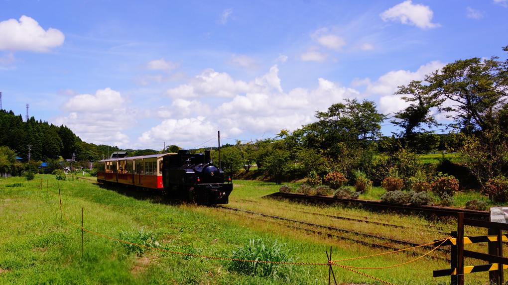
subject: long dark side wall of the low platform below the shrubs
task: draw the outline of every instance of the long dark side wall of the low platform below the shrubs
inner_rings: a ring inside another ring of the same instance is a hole
[[[428,217],[452,217],[456,218],[459,212],[464,212],[464,218],[472,220],[488,221],[490,216],[487,211],[474,211],[467,209],[455,209],[455,208],[442,208],[435,206],[412,206],[412,205],[396,205],[389,204],[380,201],[370,200],[351,200],[351,199],[340,199],[324,196],[312,196],[303,195],[296,193],[273,193],[265,196],[265,198],[274,199],[287,199],[296,202],[310,202],[315,204],[347,204],[357,205],[364,209],[378,210],[378,211],[393,211],[401,213],[412,213],[415,215],[425,215]]]

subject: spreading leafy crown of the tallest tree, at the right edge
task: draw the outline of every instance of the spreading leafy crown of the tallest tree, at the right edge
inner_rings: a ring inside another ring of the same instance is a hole
[[[506,102],[508,63],[497,59],[457,60],[426,77],[430,92],[446,99],[440,111],[448,113],[455,120],[452,126],[466,134],[489,129],[493,114]]]

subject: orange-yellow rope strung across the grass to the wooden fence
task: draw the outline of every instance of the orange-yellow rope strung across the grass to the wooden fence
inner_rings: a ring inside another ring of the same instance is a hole
[[[41,182],[41,189],[42,189],[42,182]],[[389,284],[389,285],[394,285],[393,283],[390,283],[388,281],[384,281],[382,279],[378,279],[376,277],[373,277],[373,276],[370,276],[368,274],[365,274],[365,273],[362,273],[362,272],[359,272],[359,271],[356,271],[354,269],[386,269],[386,268],[393,268],[393,267],[396,267],[396,266],[401,266],[401,265],[405,265],[405,264],[408,264],[408,263],[411,263],[411,262],[415,262],[427,255],[429,255],[430,253],[434,252],[435,250],[437,250],[437,248],[439,248],[444,242],[446,242],[447,240],[449,240],[450,238],[452,237],[447,237],[447,238],[444,238],[444,239],[441,239],[439,241],[442,241],[441,244],[439,244],[438,246],[436,246],[435,248],[433,248],[430,252],[416,258],[416,259],[413,259],[413,260],[410,260],[408,262],[404,262],[404,263],[401,263],[401,264],[397,264],[397,265],[392,265],[392,266],[386,266],[386,267],[354,267],[354,266],[347,266],[347,265],[342,265],[342,264],[338,264],[338,262],[343,262],[343,261],[350,261],[350,260],[356,260],[356,259],[362,259],[362,258],[368,258],[368,257],[376,257],[376,256],[382,256],[382,255],[386,255],[386,254],[391,254],[391,253],[398,253],[398,252],[403,252],[403,251],[407,251],[407,250],[411,250],[411,249],[414,249],[414,248],[418,248],[418,247],[422,247],[422,246],[426,246],[426,245],[429,245],[429,244],[434,244],[435,242],[432,241],[432,242],[429,242],[429,243],[426,243],[426,244],[421,244],[421,245],[418,245],[418,246],[412,246],[412,247],[409,247],[409,248],[403,248],[402,250],[398,250],[398,251],[393,251],[393,252],[387,252],[387,253],[381,253],[381,254],[375,254],[375,255],[369,255],[369,256],[363,256],[363,257],[355,257],[355,258],[349,258],[349,259],[343,259],[343,260],[330,260],[328,261],[328,263],[307,263],[307,262],[279,262],[279,261],[263,261],[263,260],[243,260],[243,259],[233,259],[233,258],[225,258],[225,257],[214,257],[214,256],[205,256],[205,255],[197,255],[197,254],[189,254],[189,253],[182,253],[182,252],[176,252],[176,251],[170,251],[170,250],[165,250],[164,248],[158,248],[158,247],[152,247],[152,246],[147,246],[147,245],[142,245],[142,244],[137,244],[137,243],[133,243],[133,242],[129,242],[129,241],[124,241],[124,240],[120,240],[120,239],[117,239],[117,238],[113,238],[113,237],[110,237],[110,236],[106,236],[106,235],[103,235],[103,234],[100,234],[100,233],[96,233],[96,232],[93,232],[93,231],[90,231],[90,230],[87,230],[85,229],[84,227],[81,227],[79,225],[76,225],[70,218],[69,216],[67,215],[67,213],[65,212],[65,210],[63,210],[63,206],[62,206],[62,203],[61,203],[61,196],[57,193],[54,193],[53,191],[49,190],[49,188],[46,186],[45,187],[46,190],[48,190],[49,192],[51,192],[52,194],[54,195],[58,195],[60,197],[60,202],[59,202],[59,206],[60,206],[60,210],[63,212],[63,215],[66,217],[66,219],[75,227],[83,230],[83,231],[86,231],[88,233],[91,233],[91,234],[94,234],[94,235],[98,235],[98,236],[101,236],[101,237],[104,237],[104,238],[107,238],[107,239],[111,239],[111,240],[115,240],[115,241],[118,241],[118,242],[122,242],[122,243],[126,243],[126,244],[131,244],[131,245],[135,245],[135,246],[141,246],[141,247],[145,247],[145,248],[148,248],[148,249],[151,249],[151,250],[156,250],[156,251],[161,251],[161,252],[167,252],[167,253],[172,253],[172,254],[178,254],[178,255],[185,255],[185,256],[193,256],[193,257],[201,257],[201,258],[208,258],[208,259],[217,259],[217,260],[228,260],[228,261],[241,261],[241,262],[253,262],[253,263],[274,263],[274,264],[295,264],[295,265],[324,265],[324,266],[338,266],[338,267],[341,267],[343,269],[346,269],[346,270],[349,270],[349,271],[352,271],[352,272],[355,272],[357,274],[360,274],[360,275],[363,275],[365,277],[368,277],[368,278],[371,278],[371,279],[374,279],[374,280],[377,280],[379,282],[383,282],[383,283],[386,283],[386,284]],[[439,241],[436,241],[436,242],[439,242]]]

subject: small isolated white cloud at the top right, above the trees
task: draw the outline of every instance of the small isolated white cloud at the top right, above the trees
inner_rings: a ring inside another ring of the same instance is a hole
[[[380,14],[386,22],[400,21],[403,24],[416,25],[419,28],[439,27],[438,23],[432,23],[433,12],[428,6],[422,4],[412,4],[411,0],[406,0]]]

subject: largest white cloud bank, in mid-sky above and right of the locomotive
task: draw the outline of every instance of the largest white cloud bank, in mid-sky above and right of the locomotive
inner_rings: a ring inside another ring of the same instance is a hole
[[[217,77],[221,78],[218,82],[222,84],[217,85]],[[171,141],[171,144],[194,147],[215,136],[217,130],[225,136],[294,130],[314,122],[316,110],[325,111],[331,104],[344,98],[360,96],[354,89],[322,78],[314,89],[295,88],[288,93],[283,92],[280,82],[277,65],[272,66],[265,75],[241,84],[226,73],[219,74],[207,69],[188,84],[171,91],[175,94],[181,92],[180,96],[173,99],[171,106],[155,111],[156,117],[165,120],[143,133],[137,144],[142,146],[165,140]],[[234,88],[235,84],[239,84],[244,92],[234,93],[238,91]],[[226,90],[224,93],[235,95],[218,105],[188,99],[202,96],[203,90],[217,93],[217,86],[223,86]],[[185,96],[182,96],[183,93]],[[216,100],[208,102],[212,101]]]

